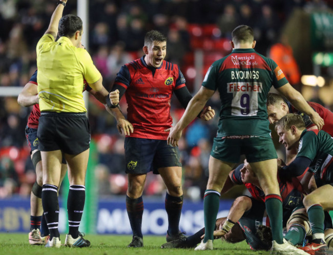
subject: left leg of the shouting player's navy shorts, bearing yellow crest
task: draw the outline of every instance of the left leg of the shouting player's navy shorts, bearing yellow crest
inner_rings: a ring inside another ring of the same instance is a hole
[[[124,142],[126,173],[147,174],[153,170],[158,140],[126,137]]]

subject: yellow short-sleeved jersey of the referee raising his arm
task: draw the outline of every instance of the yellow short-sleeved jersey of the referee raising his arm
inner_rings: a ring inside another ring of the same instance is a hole
[[[65,36],[54,41],[50,34],[39,39],[36,52],[40,111],[86,112],[84,78],[94,83],[101,76],[89,53]]]

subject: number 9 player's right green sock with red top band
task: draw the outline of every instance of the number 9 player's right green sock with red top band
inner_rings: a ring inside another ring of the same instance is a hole
[[[278,244],[282,244],[282,198],[277,194],[268,194],[265,197],[265,205],[270,227],[272,228],[273,240]]]

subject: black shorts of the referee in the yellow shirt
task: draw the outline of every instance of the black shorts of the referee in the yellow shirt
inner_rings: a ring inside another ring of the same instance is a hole
[[[71,155],[84,152],[90,145],[86,113],[41,112],[37,137],[42,152],[61,150]]]

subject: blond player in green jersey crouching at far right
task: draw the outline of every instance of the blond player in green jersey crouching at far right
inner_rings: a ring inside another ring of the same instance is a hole
[[[282,178],[302,175],[307,167],[303,180],[306,185],[315,174],[318,186],[308,194],[303,204],[306,208],[313,239],[303,247],[309,253],[328,249],[324,238],[324,210],[333,209],[333,139],[325,131],[306,130],[305,123],[297,114],[287,114],[275,125],[280,142],[290,150],[298,148],[296,159],[280,169]]]

